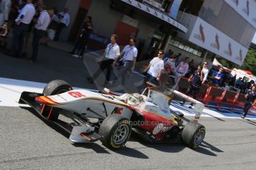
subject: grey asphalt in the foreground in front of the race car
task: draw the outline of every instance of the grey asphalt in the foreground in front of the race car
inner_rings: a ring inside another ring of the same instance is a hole
[[[256,120],[201,118],[198,149],[148,144],[133,136],[120,150],[100,142],[74,145],[29,108],[0,107],[0,169],[255,169]]]

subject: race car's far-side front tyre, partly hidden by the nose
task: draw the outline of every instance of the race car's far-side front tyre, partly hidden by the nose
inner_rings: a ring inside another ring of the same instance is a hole
[[[50,83],[48,83],[45,86],[45,89],[43,90],[42,93],[44,95],[58,95],[60,93],[68,92],[70,90],[72,90],[72,87],[66,81],[53,80],[53,81],[50,81]],[[50,109],[50,108],[46,108],[46,109]],[[48,116],[48,119],[54,121],[54,120],[57,120],[58,118],[59,118],[59,109],[57,108],[52,109],[52,112],[50,113],[50,116]]]

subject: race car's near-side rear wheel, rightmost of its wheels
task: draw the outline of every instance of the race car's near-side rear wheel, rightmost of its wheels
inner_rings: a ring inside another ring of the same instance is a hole
[[[197,148],[206,135],[205,126],[193,121],[188,122],[181,132],[183,142],[191,149]]]

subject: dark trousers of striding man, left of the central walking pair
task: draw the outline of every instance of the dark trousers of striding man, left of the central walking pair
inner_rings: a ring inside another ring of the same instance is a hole
[[[113,63],[114,63],[114,59],[106,59],[104,61],[101,61],[99,65],[99,69],[93,75],[93,79],[96,79],[101,72],[107,69],[106,79],[107,81],[109,81],[111,78],[111,70],[113,69],[113,66],[112,66]]]

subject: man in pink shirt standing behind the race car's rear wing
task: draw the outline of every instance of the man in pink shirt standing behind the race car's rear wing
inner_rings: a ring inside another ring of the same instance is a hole
[[[173,86],[173,89],[177,89],[177,86],[180,82],[180,78],[182,78],[188,72],[188,60],[189,58],[186,57],[185,60],[180,62],[180,64],[177,66],[176,77],[174,80],[175,84]]]

